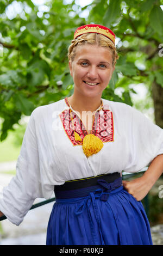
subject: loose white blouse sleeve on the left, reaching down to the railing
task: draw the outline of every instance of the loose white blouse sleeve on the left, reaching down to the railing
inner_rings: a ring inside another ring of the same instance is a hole
[[[39,153],[35,132],[36,109],[30,115],[23,137],[20,155],[16,163],[16,176],[3,188],[0,198],[0,210],[8,220],[19,225],[34,199],[43,197],[39,168]]]

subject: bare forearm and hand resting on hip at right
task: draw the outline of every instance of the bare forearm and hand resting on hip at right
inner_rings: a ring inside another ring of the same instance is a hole
[[[123,187],[133,196],[137,201],[142,200],[149,190],[153,187],[155,182],[159,179],[163,172],[163,154],[156,156],[149,165],[146,172],[137,179],[126,181],[123,180]]]

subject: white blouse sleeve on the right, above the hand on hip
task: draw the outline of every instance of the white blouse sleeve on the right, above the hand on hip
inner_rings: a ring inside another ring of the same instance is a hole
[[[130,157],[125,172],[138,172],[163,154],[163,129],[133,107],[129,107]]]

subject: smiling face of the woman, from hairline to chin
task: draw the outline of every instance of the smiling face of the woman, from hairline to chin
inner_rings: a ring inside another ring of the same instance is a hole
[[[69,66],[76,93],[90,97],[101,97],[115,69],[108,48],[89,44],[77,46],[76,56]]]

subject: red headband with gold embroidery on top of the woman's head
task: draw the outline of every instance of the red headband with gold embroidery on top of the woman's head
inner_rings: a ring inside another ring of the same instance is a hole
[[[97,24],[88,24],[77,28],[73,39],[76,39],[79,35],[83,35],[85,33],[99,33],[105,35],[115,44],[115,34],[111,31],[111,29]]]

